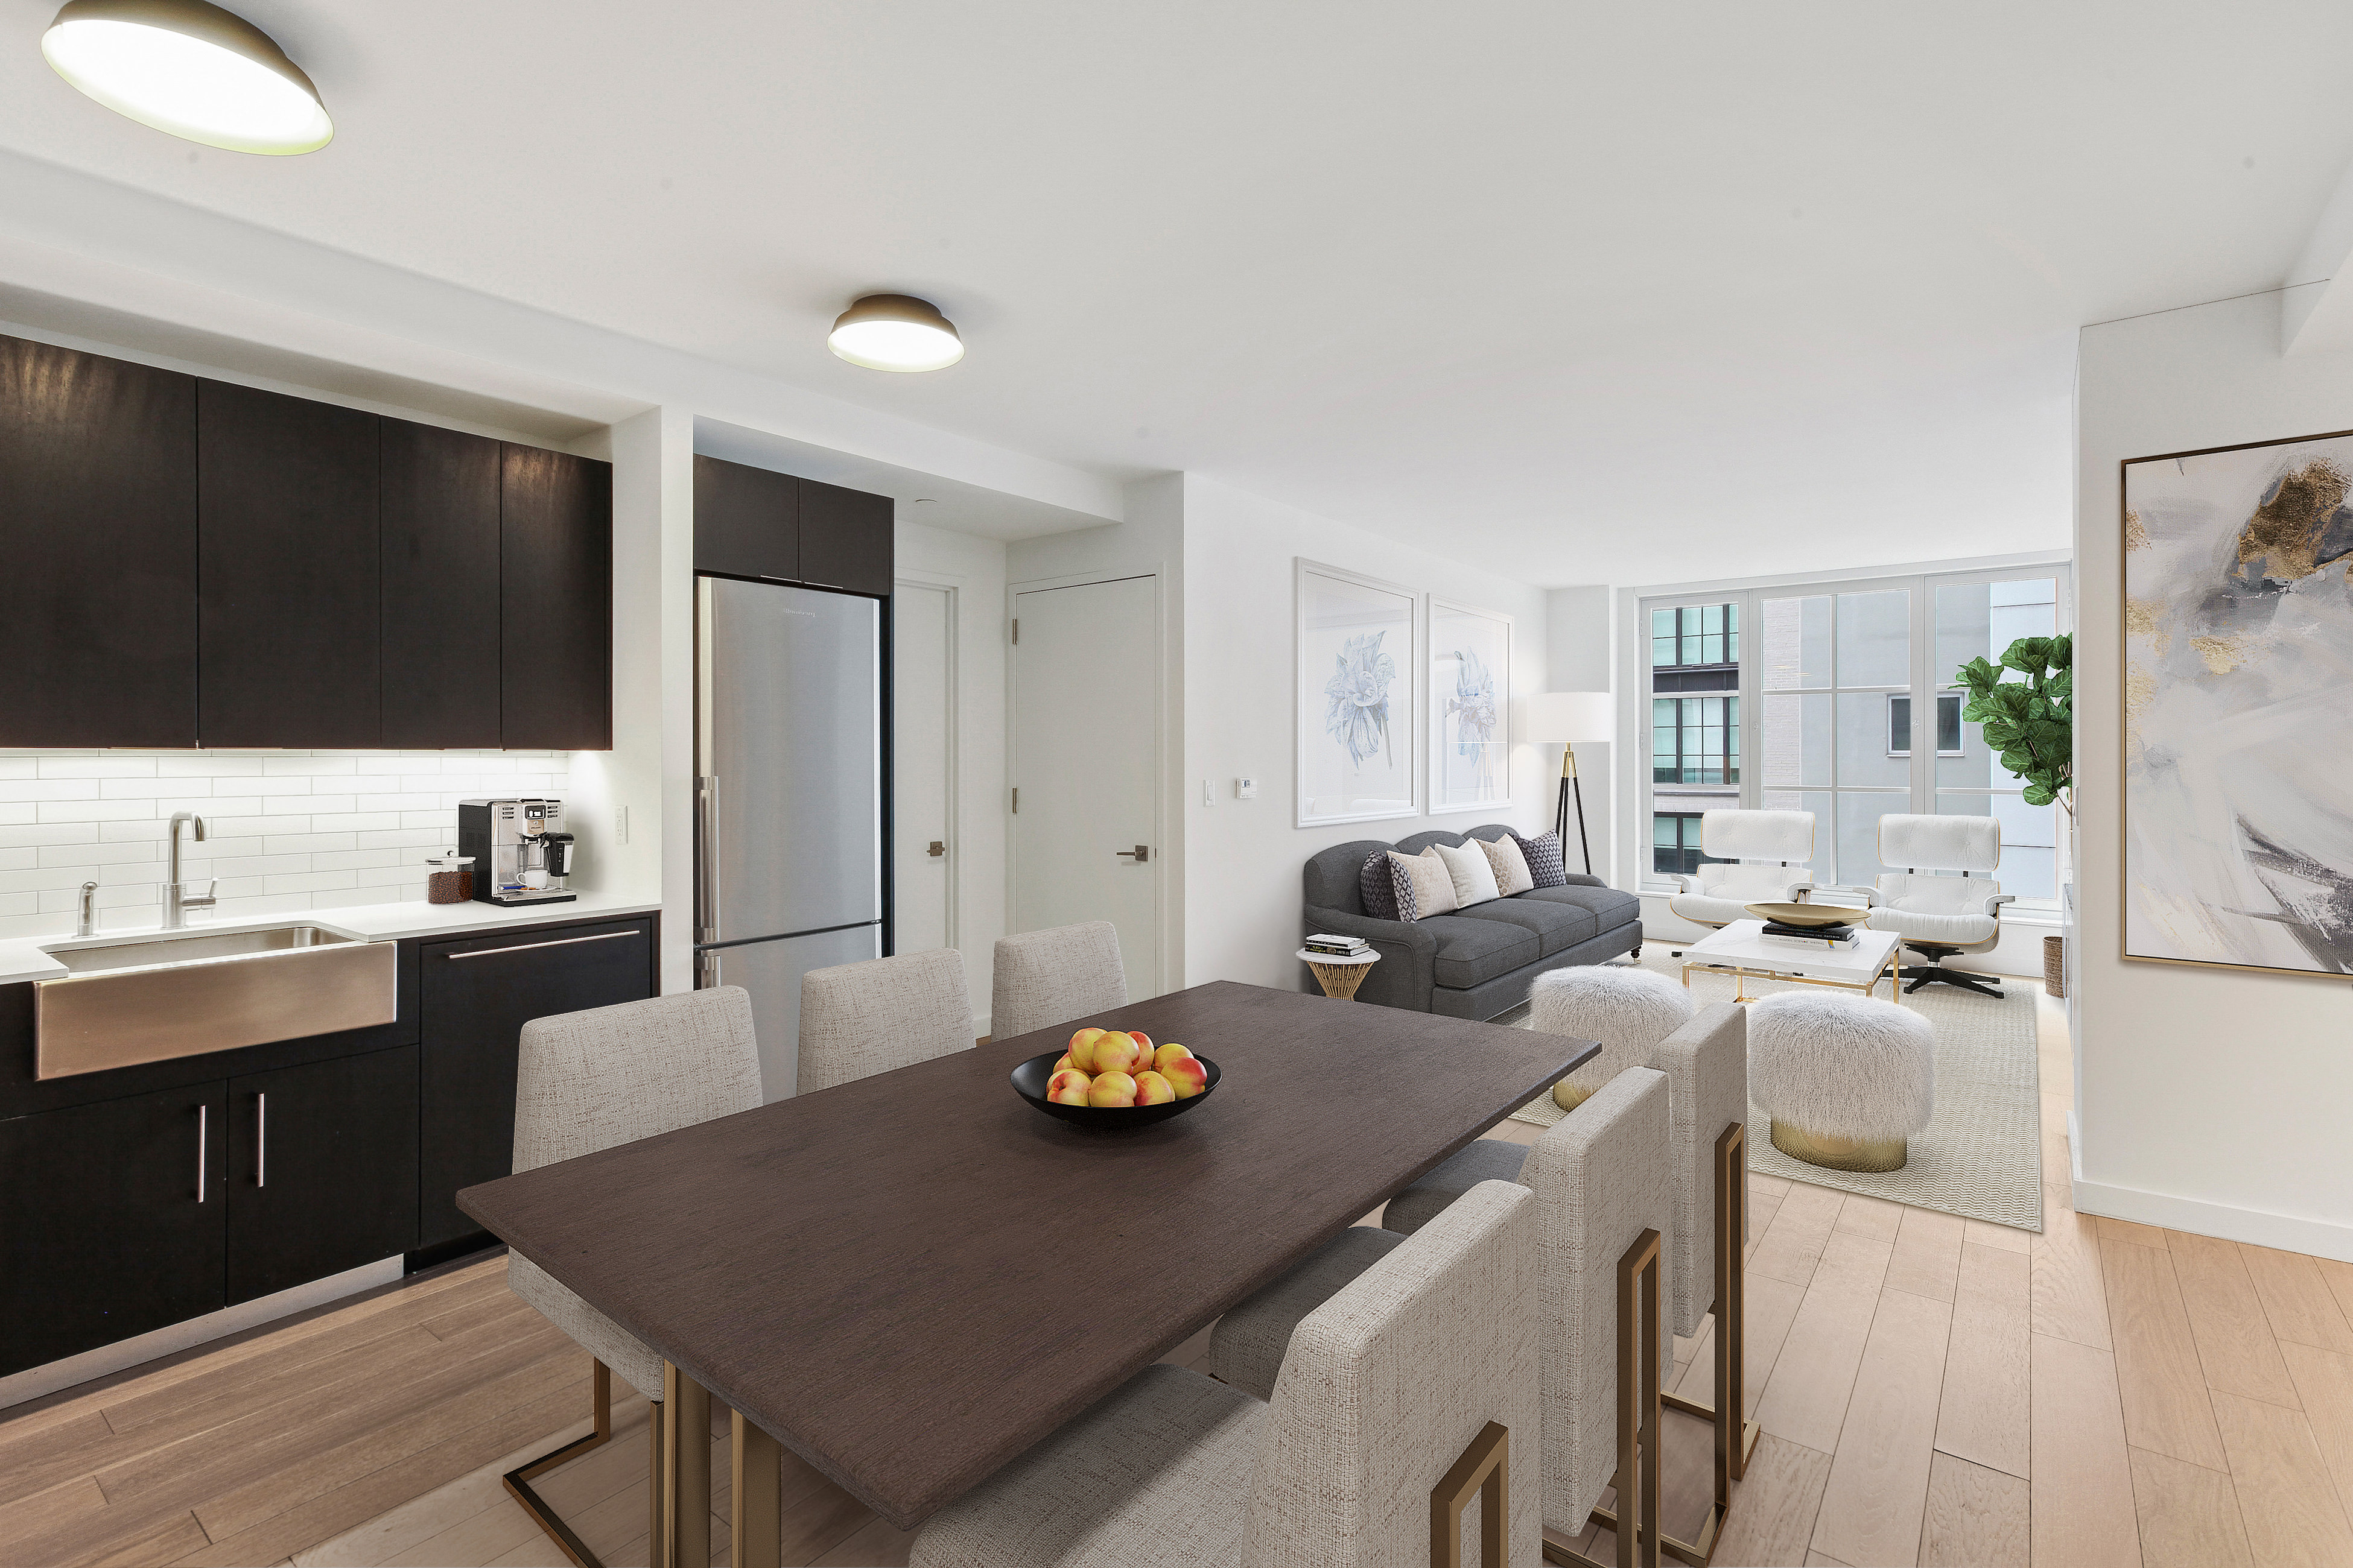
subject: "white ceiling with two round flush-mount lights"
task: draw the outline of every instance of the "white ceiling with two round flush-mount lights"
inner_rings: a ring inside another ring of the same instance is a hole
[[[238,9],[334,146],[132,125],[5,0],[0,148],[1546,583],[2064,545],[2073,329],[2301,282],[2353,158],[2327,2]],[[873,289],[965,362],[831,357]]]

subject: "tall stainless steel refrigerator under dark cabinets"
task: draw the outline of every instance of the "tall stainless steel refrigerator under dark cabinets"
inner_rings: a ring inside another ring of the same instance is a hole
[[[882,957],[882,602],[694,585],[694,983],[751,992],[762,1086],[781,1100],[800,976]]]

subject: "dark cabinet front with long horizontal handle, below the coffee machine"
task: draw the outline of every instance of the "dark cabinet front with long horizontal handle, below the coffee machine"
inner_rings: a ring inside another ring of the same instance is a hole
[[[424,943],[419,1248],[475,1234],[456,1190],[515,1168],[522,1025],[642,1001],[654,994],[654,922],[642,917]]]

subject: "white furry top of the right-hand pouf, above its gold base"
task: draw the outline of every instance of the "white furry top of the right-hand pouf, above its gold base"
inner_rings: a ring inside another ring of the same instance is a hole
[[[1937,1112],[1937,1030],[1873,997],[1748,1004],[1748,1098],[1821,1138],[1911,1138]]]

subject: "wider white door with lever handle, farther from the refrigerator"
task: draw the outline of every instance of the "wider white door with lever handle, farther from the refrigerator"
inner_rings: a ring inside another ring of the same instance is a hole
[[[1108,919],[1127,994],[1158,997],[1160,581],[1019,592],[1014,618],[1014,931]]]

